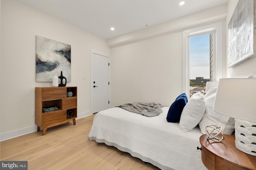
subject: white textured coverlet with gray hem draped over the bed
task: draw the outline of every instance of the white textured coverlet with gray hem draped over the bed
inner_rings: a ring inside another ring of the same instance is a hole
[[[182,132],[178,123],[168,123],[169,107],[163,113],[146,117],[120,107],[98,112],[89,139],[114,146],[162,170],[204,170],[198,127]]]

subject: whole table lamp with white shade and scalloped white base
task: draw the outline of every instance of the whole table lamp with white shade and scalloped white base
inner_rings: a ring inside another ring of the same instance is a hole
[[[256,78],[220,79],[213,110],[235,118],[236,148],[256,156]]]

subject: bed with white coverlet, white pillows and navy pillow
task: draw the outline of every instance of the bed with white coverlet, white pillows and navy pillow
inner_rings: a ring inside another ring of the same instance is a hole
[[[236,78],[256,78],[256,74]],[[94,117],[89,140],[114,146],[162,170],[205,170],[197,147],[201,147],[199,138],[206,126],[221,126],[227,135],[234,132],[234,118],[212,110],[216,86],[205,95],[193,94],[189,101],[181,94],[170,107],[161,106],[162,113],[154,117],[120,107],[100,111]]]

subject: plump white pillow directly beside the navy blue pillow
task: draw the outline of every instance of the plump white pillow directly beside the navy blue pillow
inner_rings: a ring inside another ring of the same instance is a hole
[[[193,94],[181,113],[180,129],[183,132],[192,131],[202,119],[204,111],[204,96],[200,92]]]

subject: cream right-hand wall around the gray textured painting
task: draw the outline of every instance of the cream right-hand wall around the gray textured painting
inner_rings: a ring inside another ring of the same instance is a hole
[[[232,17],[232,14],[236,8],[236,5],[238,3],[238,0],[229,0],[228,1],[228,14],[226,17],[226,33],[228,35],[228,22],[230,21],[230,18]],[[226,37],[228,42],[228,37]],[[228,47],[228,44],[227,44]],[[227,56],[227,54],[226,54]],[[227,62],[226,62],[227,63]],[[227,65],[226,65],[227,67]],[[245,61],[244,63],[238,64],[232,68],[227,68],[227,78],[234,77],[234,76],[240,76],[240,75],[246,75],[246,74],[252,74],[256,73],[256,57],[249,59]]]

